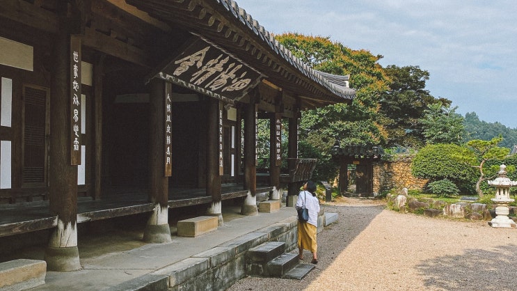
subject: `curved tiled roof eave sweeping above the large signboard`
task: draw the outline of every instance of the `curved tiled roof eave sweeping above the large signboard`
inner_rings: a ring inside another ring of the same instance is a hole
[[[180,25],[224,47],[285,91],[323,104],[351,102],[339,76],[299,61],[232,0],[127,0],[162,22]]]

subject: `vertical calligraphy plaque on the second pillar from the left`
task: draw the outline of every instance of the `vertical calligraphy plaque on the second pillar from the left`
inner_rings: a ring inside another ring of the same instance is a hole
[[[164,96],[164,175],[170,177],[173,173],[172,163],[172,146],[173,146],[173,134],[172,134],[172,84],[165,83],[165,96]]]

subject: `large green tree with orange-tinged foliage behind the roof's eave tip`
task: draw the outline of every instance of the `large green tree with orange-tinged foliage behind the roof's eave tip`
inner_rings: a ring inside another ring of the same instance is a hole
[[[334,104],[304,111],[300,123],[300,139],[314,146],[322,154],[318,173],[327,173],[320,167],[328,164],[335,138],[343,143],[385,143],[387,133],[379,122],[378,102],[381,93],[388,90],[388,79],[379,63],[382,56],[366,50],[352,50],[340,42],[320,36],[285,33],[276,39],[299,58],[322,72],[350,74],[350,86],[356,88],[351,104]],[[303,153],[301,153],[303,155]],[[333,178],[335,173],[321,180]]]

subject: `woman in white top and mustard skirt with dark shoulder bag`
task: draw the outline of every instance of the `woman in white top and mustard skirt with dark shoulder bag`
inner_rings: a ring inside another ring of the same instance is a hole
[[[316,242],[317,228],[318,228],[318,212],[319,201],[316,197],[316,184],[311,180],[303,184],[303,191],[298,194],[296,200],[296,208],[305,208],[309,212],[309,220],[307,222],[298,221],[298,250],[299,259],[303,260],[303,250],[306,249],[312,252],[312,264],[318,263]]]

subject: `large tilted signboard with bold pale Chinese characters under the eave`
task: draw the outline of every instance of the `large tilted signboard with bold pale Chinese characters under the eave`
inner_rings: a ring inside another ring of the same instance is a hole
[[[231,103],[246,95],[262,76],[221,49],[196,38],[156,77]]]

